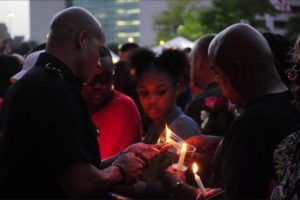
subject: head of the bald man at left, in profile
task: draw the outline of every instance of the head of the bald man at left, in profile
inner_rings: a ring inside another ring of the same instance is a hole
[[[88,81],[96,72],[104,42],[100,22],[84,8],[70,7],[53,17],[46,52],[60,59],[82,81]]]

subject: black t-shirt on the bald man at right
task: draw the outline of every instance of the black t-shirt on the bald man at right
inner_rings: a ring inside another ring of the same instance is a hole
[[[252,102],[226,132],[215,156],[212,187],[230,198],[266,199],[273,173],[273,152],[299,122],[289,92]]]

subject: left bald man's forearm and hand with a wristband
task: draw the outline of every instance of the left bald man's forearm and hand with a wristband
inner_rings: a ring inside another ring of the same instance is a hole
[[[93,197],[103,194],[122,180],[136,181],[144,165],[143,160],[131,153],[120,156],[112,166],[103,170],[97,169],[88,162],[77,161],[69,165],[59,178],[59,183],[63,191],[72,198]]]

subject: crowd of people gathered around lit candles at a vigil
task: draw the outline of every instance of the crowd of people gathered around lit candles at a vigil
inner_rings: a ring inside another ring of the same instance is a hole
[[[191,52],[127,43],[113,63],[101,23],[70,7],[0,72],[0,198],[300,199],[300,36],[238,23]],[[205,191],[157,143],[166,125]]]

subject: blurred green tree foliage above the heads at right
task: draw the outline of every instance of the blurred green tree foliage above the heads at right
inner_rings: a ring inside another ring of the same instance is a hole
[[[169,40],[178,35],[195,40],[241,21],[266,29],[264,24],[255,20],[255,16],[277,14],[268,0],[212,0],[208,7],[199,7],[199,2],[200,0],[169,0],[169,9],[154,18],[157,40]]]

